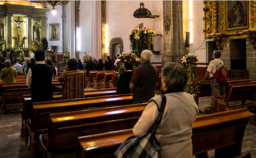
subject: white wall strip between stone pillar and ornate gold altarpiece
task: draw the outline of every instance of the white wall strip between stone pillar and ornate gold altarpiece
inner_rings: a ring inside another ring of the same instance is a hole
[[[199,62],[206,63],[206,42],[204,40],[204,4],[202,0],[193,0],[192,1],[193,8],[193,44],[189,46],[190,55],[193,53],[198,56]],[[189,10],[189,8],[188,8]],[[189,18],[189,13],[188,13]],[[200,65],[199,65],[200,66]]]

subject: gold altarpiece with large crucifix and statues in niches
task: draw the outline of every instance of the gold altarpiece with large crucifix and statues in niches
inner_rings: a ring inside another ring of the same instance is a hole
[[[15,36],[19,43],[23,37],[26,37],[25,47],[35,50],[36,46],[33,45],[33,42],[42,41],[42,38],[46,37],[47,11],[48,9],[40,3],[0,0],[0,26],[3,30],[3,39],[6,40],[2,50],[15,47],[13,39]]]

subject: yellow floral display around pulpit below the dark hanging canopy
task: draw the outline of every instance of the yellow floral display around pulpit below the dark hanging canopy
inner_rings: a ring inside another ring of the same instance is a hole
[[[146,49],[152,50],[153,35],[156,32],[150,28],[144,27],[142,30],[133,29],[129,35],[130,49],[132,52],[138,52],[139,47],[146,44]]]

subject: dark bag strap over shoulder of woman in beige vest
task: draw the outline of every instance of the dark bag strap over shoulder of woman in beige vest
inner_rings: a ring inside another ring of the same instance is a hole
[[[164,94],[160,94],[160,95],[162,97],[162,102],[161,102],[160,110],[158,111],[158,115],[156,117],[156,120],[155,120],[155,122],[152,125],[151,130],[150,130],[150,133],[152,135],[155,135],[156,129],[162,121],[162,117],[163,117],[163,114],[164,114],[164,108],[165,108],[165,105],[166,105],[166,96]]]

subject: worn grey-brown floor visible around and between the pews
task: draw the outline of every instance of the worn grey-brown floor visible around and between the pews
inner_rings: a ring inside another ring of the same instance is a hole
[[[199,98],[199,108],[210,105],[210,97]],[[202,113],[200,114],[202,115]],[[253,118],[251,118],[253,120]],[[34,158],[35,155],[28,152],[25,138],[20,138],[21,118],[19,112],[11,112],[3,115],[0,112],[0,158]],[[248,124],[242,143],[242,154],[251,153],[256,156],[256,126]],[[56,158],[74,158],[75,149],[61,150]],[[214,156],[214,150],[208,152]],[[38,156],[40,157],[40,156]]]

